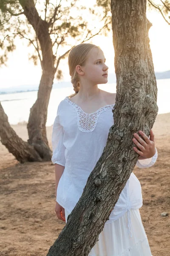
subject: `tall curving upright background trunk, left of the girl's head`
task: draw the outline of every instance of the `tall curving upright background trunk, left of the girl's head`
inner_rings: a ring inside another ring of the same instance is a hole
[[[51,160],[52,152],[48,146],[45,125],[56,68],[54,67],[52,41],[48,31],[49,25],[39,16],[35,8],[34,0],[19,0],[19,2],[23,7],[24,15],[26,15],[26,18],[35,30],[42,53],[42,77],[38,97],[31,108],[27,125],[29,136],[28,143],[34,146],[42,159]]]

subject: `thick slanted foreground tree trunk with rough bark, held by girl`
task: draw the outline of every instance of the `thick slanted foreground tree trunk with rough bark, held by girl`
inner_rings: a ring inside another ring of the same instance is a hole
[[[140,129],[149,135],[158,112],[146,0],[111,0],[111,12],[117,78],[115,124],[48,256],[88,255],[138,159],[133,134]]]

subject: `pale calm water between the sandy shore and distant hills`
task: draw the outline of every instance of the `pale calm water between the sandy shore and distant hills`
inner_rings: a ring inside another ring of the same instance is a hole
[[[157,80],[159,114],[170,112],[170,79]],[[99,88],[111,93],[116,93],[116,84],[100,84]],[[59,102],[74,93],[72,87],[58,88],[51,91],[48,105],[47,126],[53,125]],[[12,93],[0,95],[0,102],[8,116],[10,124],[28,122],[30,108],[37,99],[37,91],[25,93]]]

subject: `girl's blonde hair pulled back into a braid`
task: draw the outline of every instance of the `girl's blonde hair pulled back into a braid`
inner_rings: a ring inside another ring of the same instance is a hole
[[[68,67],[71,76],[71,83],[73,84],[75,93],[69,95],[69,98],[75,96],[79,92],[80,84],[79,77],[77,76],[76,66],[85,65],[85,61],[87,60],[89,53],[94,48],[100,49],[100,47],[96,46],[95,44],[79,44],[71,49],[68,55]]]

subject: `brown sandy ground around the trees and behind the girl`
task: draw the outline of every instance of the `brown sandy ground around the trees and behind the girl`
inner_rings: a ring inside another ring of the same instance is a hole
[[[28,139],[26,125],[12,127]],[[49,141],[51,132],[47,127]],[[158,160],[134,173],[142,185],[140,212],[152,254],[170,256],[170,215],[160,215],[170,214],[170,113],[157,116],[153,132]],[[0,144],[0,185],[0,256],[45,256],[65,226],[54,212],[53,164],[20,164]]]

